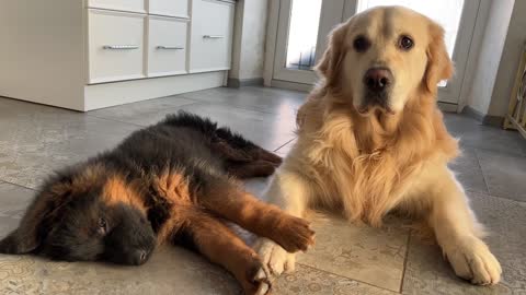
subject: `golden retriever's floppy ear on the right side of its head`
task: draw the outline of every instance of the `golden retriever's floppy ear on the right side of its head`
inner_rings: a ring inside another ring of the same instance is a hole
[[[437,84],[441,81],[453,76],[454,67],[444,42],[444,28],[433,21],[430,21],[430,37],[424,82],[430,92],[436,92]]]

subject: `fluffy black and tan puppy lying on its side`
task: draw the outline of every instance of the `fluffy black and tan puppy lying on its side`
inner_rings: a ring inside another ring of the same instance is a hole
[[[262,264],[226,221],[290,252],[313,241],[306,221],[256,200],[237,181],[271,175],[279,164],[208,119],[172,115],[48,179],[0,252],[141,264],[169,243],[225,267],[252,294],[267,283],[255,278]]]

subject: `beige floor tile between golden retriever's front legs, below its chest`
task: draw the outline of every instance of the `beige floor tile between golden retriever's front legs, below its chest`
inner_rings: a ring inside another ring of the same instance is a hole
[[[316,221],[316,246],[298,262],[398,292],[409,231],[401,225],[377,229],[330,216]]]

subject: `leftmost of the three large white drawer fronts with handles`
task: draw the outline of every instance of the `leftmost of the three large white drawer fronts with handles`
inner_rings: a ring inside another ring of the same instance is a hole
[[[89,12],[89,83],[145,76],[145,16]]]

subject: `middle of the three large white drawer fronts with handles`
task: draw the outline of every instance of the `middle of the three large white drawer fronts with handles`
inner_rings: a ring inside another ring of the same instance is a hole
[[[186,30],[183,20],[148,20],[148,76],[186,73]]]

